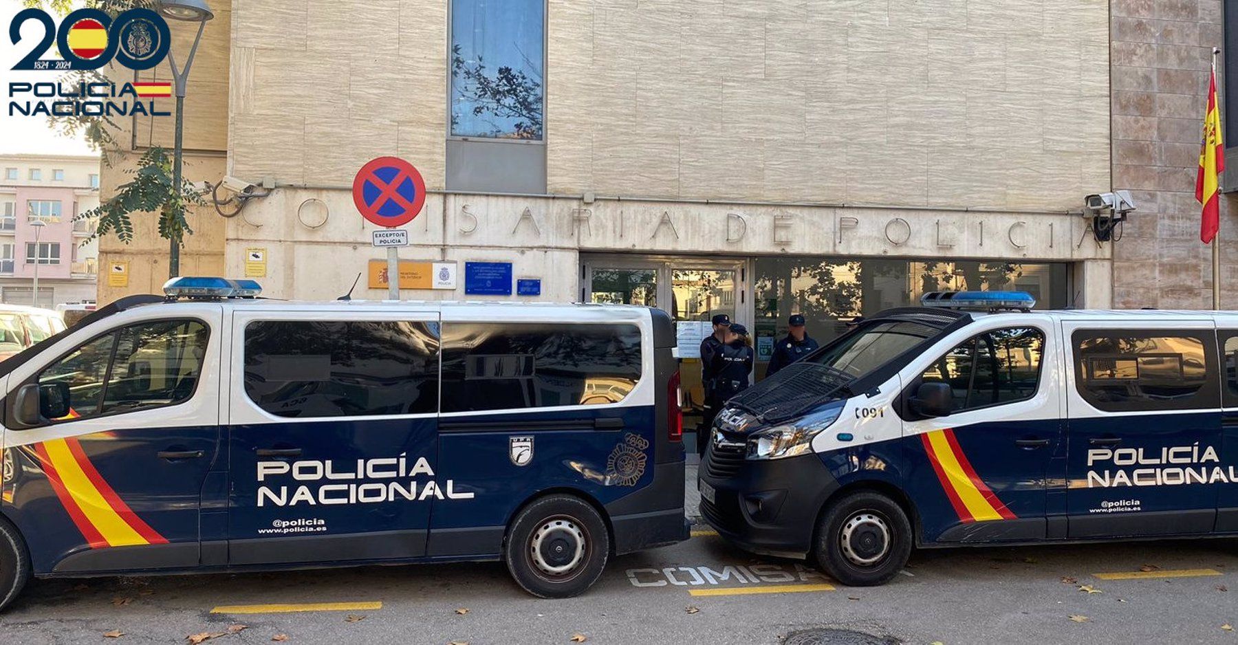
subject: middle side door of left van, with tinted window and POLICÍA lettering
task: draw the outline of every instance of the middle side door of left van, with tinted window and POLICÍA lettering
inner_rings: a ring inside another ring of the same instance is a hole
[[[262,310],[232,323],[229,565],[425,555],[437,312]]]

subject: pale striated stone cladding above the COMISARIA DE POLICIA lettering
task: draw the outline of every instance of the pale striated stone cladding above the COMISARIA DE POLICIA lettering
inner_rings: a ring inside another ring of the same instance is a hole
[[[236,0],[233,173],[443,186],[447,2]],[[550,192],[1077,209],[1104,0],[550,0]]]

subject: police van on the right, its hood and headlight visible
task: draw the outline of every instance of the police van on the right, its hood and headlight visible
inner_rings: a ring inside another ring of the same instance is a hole
[[[926,295],[732,399],[701,514],[881,584],[912,547],[1238,535],[1238,312]]]

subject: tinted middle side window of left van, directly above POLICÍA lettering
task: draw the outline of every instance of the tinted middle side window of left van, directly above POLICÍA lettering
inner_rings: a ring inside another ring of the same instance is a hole
[[[245,392],[286,417],[435,412],[437,323],[253,322],[245,328]]]

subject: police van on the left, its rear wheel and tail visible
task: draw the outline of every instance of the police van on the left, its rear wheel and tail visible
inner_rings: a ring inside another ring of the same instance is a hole
[[[688,537],[659,310],[165,291],[0,363],[0,607],[31,576],[425,561],[571,597]]]

